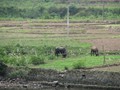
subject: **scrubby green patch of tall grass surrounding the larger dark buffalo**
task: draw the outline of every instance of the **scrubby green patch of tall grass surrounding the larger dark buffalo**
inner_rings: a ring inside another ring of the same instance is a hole
[[[10,43],[10,42],[9,42]],[[12,66],[40,65],[62,59],[54,55],[56,47],[63,46],[67,49],[67,57],[77,57],[88,52],[91,46],[88,43],[81,43],[69,39],[42,39],[33,41],[17,41],[8,45],[0,46],[2,61]],[[24,44],[23,44],[24,43]]]

